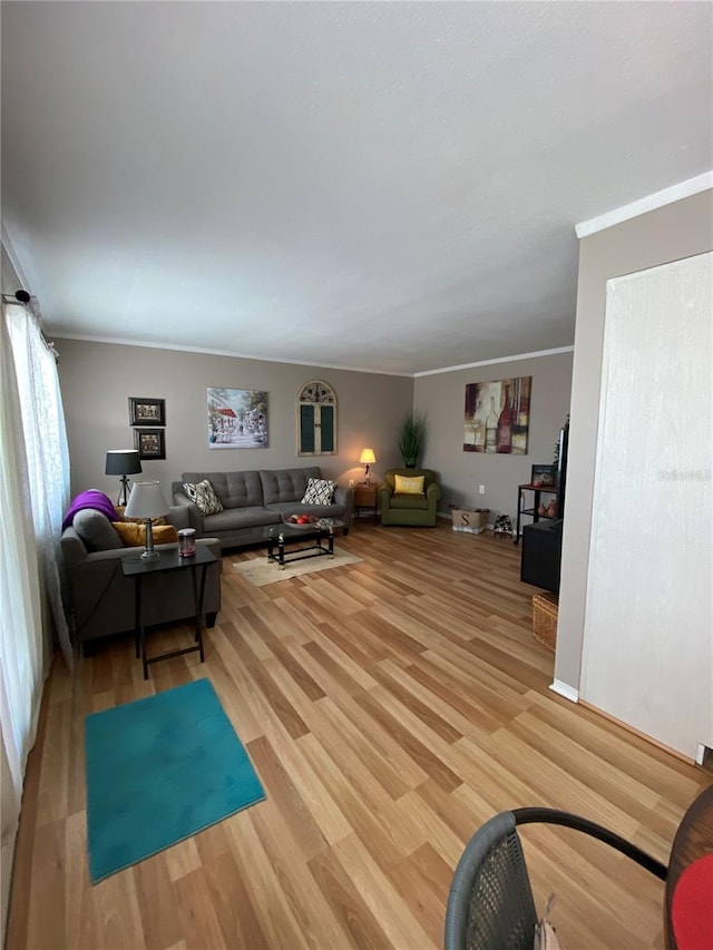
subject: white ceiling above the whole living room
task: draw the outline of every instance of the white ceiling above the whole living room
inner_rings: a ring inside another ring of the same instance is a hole
[[[2,2],[49,333],[417,373],[569,345],[576,223],[713,167],[699,2]]]

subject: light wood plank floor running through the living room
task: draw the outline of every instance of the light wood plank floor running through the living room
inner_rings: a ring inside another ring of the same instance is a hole
[[[666,861],[711,774],[547,687],[519,549],[489,535],[361,525],[362,564],[268,587],[224,556],[206,663],[141,678],[131,638],[47,684],[8,950],[442,946],[452,870],[507,807],[606,824]],[[187,627],[158,630],[156,650]],[[84,717],[207,676],[267,800],[91,887]],[[575,832],[522,830],[536,898],[569,950],[662,948],[663,885]]]

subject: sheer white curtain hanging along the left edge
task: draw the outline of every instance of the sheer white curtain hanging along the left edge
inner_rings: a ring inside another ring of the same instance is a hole
[[[69,456],[55,354],[37,315],[3,305],[0,321],[0,726],[2,922],[22,783],[35,743],[52,633],[72,649],[61,598],[59,537]]]

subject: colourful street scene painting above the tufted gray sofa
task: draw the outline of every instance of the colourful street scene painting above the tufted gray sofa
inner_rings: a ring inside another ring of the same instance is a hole
[[[208,388],[208,449],[267,448],[267,393]]]

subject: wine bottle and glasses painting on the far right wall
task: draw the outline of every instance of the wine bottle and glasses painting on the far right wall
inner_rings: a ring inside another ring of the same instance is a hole
[[[463,452],[526,456],[531,376],[467,383]]]

